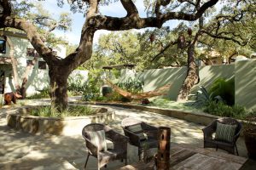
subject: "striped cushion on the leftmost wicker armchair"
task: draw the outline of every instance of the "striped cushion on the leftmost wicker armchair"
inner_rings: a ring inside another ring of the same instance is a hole
[[[107,143],[104,130],[87,131],[86,134],[88,139],[90,139],[90,142],[98,147],[98,150],[107,150]]]

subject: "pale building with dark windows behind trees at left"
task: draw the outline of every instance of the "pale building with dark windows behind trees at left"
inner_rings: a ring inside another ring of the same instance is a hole
[[[26,67],[29,65],[35,54],[32,44],[26,38],[26,34],[11,31],[0,31],[0,94],[15,92],[15,82],[13,77],[12,62],[9,55],[9,45],[4,36],[8,36],[14,46],[14,57],[17,60],[17,72],[19,83],[25,75]],[[66,48],[58,45],[53,51],[57,56],[64,58]],[[26,95],[37,94],[41,90],[49,87],[48,65],[43,58],[38,57],[31,71],[28,73]]]

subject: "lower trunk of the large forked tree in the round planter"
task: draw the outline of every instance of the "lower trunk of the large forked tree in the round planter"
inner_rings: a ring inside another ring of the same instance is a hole
[[[57,111],[67,109],[67,77],[69,75],[67,68],[49,66],[49,83],[50,83],[50,98],[51,108]]]

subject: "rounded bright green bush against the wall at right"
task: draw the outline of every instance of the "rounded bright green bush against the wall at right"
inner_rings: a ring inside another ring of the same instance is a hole
[[[235,78],[225,80],[224,78],[218,78],[212,83],[212,87],[209,89],[209,94],[212,98],[220,96],[227,105],[235,104]]]

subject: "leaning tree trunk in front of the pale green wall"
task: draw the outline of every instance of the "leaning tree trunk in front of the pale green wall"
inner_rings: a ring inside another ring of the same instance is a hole
[[[188,48],[187,77],[185,78],[182,88],[178,93],[177,101],[186,101],[191,88],[193,88],[194,84],[197,82],[199,82],[199,77],[197,76],[195,65],[195,43],[191,43]]]

